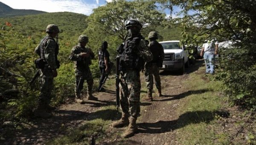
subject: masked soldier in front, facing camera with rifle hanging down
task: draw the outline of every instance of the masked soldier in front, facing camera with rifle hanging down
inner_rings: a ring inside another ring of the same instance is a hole
[[[121,128],[128,125],[127,130],[122,134],[128,138],[137,132],[136,120],[140,113],[140,70],[145,61],[151,61],[153,56],[146,45],[146,41],[140,34],[142,25],[138,20],[130,19],[125,24],[128,31],[120,58],[120,105],[122,118],[114,122],[114,128]]]

